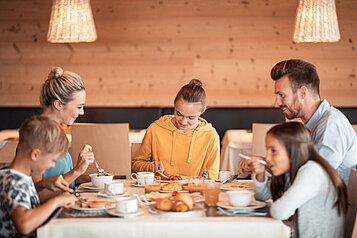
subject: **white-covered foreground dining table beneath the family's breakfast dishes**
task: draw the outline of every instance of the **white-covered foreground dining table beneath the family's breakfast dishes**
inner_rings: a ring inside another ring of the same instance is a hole
[[[124,182],[124,193],[127,196],[145,194],[145,189],[131,180],[118,181]],[[115,201],[113,198],[99,197],[103,195],[103,191],[81,189],[77,191],[82,198],[88,200]],[[221,190],[219,201],[225,199],[228,199],[227,194]],[[76,209],[61,208],[46,224],[37,229],[37,237],[290,237],[290,228],[282,221],[273,219],[269,214],[226,215],[220,213],[216,206],[208,207],[202,201],[197,201],[197,207],[194,213],[175,216],[170,215],[170,212],[152,213],[147,205],[142,205],[139,207],[138,215],[129,218],[111,216],[105,211],[86,213]],[[268,210],[267,207],[263,209]]]

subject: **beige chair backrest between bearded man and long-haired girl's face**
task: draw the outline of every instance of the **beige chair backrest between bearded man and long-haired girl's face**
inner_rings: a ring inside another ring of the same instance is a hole
[[[265,135],[276,124],[253,123],[252,154],[265,157]]]

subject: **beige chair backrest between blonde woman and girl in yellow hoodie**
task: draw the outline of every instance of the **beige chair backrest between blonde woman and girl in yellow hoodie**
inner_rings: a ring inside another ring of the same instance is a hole
[[[128,123],[74,123],[71,127],[71,156],[73,165],[77,163],[84,144],[93,147],[95,159],[100,168],[115,175],[130,177],[130,145]],[[89,166],[86,174],[96,172]]]

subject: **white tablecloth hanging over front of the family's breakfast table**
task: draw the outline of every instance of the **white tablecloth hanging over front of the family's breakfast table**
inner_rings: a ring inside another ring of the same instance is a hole
[[[130,183],[128,180],[125,182],[126,191],[144,193],[143,188],[130,187]],[[84,197],[85,194],[82,196]],[[285,238],[289,237],[289,234],[290,229],[286,225],[268,217],[205,217],[203,213],[202,217],[164,218],[152,215],[148,211],[145,211],[142,216],[128,219],[117,217],[55,218],[37,230],[38,238]]]

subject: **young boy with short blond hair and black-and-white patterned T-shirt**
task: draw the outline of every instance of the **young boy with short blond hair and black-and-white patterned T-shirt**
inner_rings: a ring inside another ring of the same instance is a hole
[[[57,122],[34,116],[21,125],[15,158],[0,170],[0,237],[33,237],[56,208],[74,204],[76,198],[63,193],[40,205],[31,178],[54,167],[67,149],[67,137]]]

